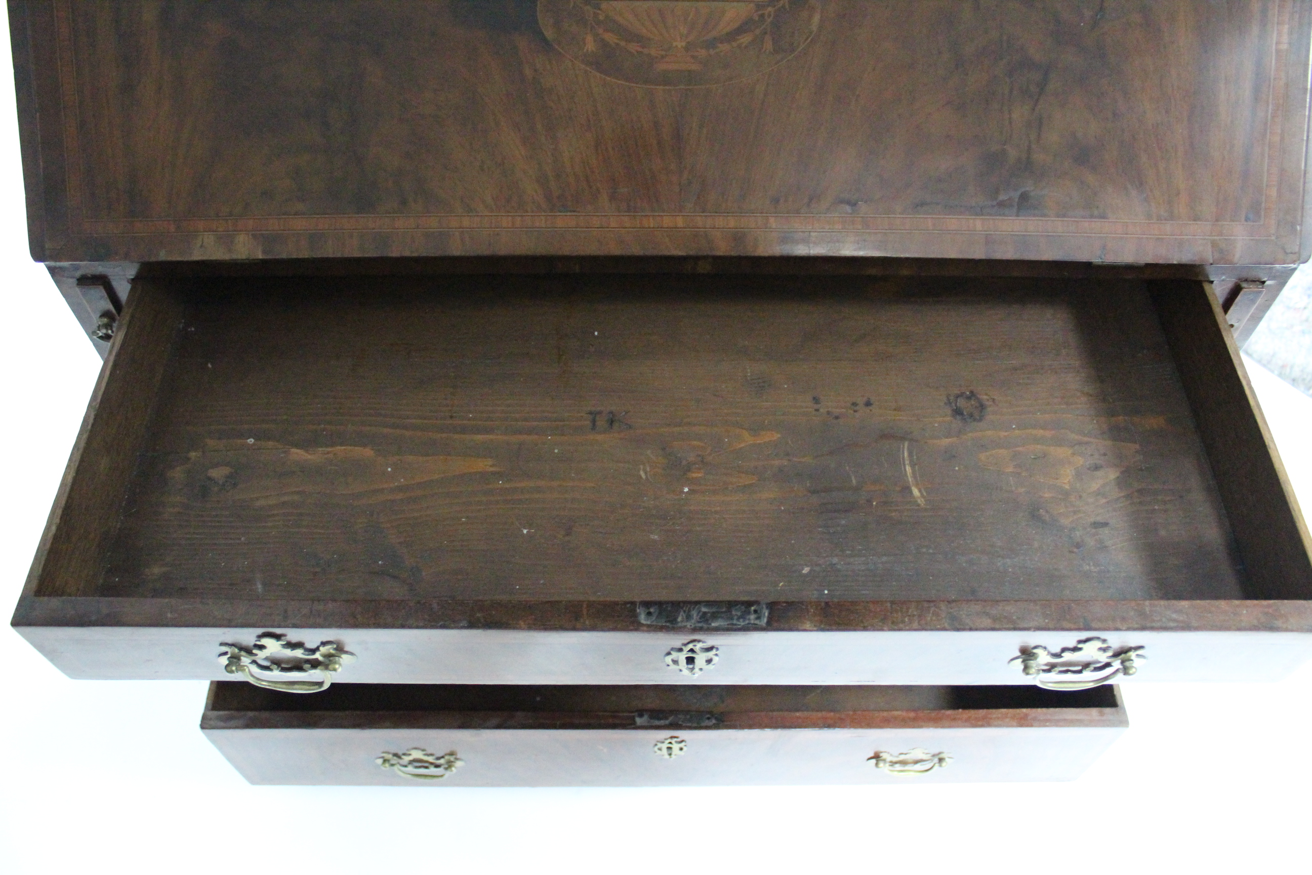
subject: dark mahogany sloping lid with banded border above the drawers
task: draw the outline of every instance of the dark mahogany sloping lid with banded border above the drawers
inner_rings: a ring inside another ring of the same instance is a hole
[[[1300,257],[1303,0],[799,1],[665,80],[537,5],[10,0],[33,252]]]

